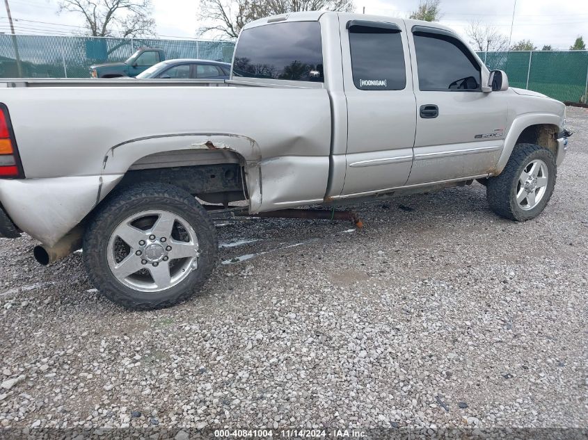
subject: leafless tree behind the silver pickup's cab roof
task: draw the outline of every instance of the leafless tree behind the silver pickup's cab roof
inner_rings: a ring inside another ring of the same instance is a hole
[[[353,11],[353,0],[200,0],[197,19],[207,22],[198,34],[216,33],[221,38],[237,38],[248,22],[303,10]]]

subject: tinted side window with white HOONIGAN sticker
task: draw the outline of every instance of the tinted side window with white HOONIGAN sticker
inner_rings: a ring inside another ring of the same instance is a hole
[[[353,84],[360,90],[402,90],[406,65],[400,32],[388,28],[349,28]]]

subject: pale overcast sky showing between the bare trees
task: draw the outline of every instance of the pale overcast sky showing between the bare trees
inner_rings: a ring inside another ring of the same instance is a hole
[[[191,38],[195,35],[198,0],[152,0],[157,33],[164,36]],[[72,33],[83,25],[72,13],[57,15],[57,0],[9,0],[17,33],[40,34],[47,31]],[[418,0],[356,0],[356,10],[377,15],[406,17]],[[479,19],[509,35],[514,0],[442,0],[441,22],[462,35],[468,22]],[[8,32],[6,10],[0,3],[0,31]],[[28,22],[24,20],[30,20]],[[45,23],[40,23],[45,22]],[[569,49],[578,35],[588,42],[588,0],[517,0],[512,42],[530,39],[541,49],[543,44]]]

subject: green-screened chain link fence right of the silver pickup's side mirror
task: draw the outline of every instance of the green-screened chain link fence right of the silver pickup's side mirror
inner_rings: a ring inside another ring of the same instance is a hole
[[[488,69],[507,72],[509,85],[559,101],[587,101],[588,51],[478,52]]]

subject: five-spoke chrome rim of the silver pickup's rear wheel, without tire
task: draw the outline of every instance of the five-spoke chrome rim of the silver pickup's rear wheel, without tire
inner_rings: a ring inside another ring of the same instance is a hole
[[[170,211],[142,211],[114,229],[107,247],[118,281],[141,292],[159,292],[182,282],[198,267],[196,231]]]

